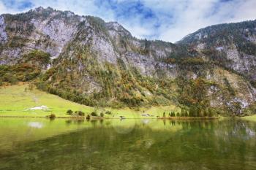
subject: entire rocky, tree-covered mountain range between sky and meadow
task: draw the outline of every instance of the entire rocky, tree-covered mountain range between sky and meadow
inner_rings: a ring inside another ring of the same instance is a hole
[[[48,7],[0,17],[0,84],[31,81],[99,107],[175,104],[197,115],[256,107],[256,21],[200,29],[176,44]]]

